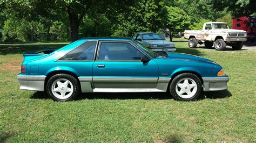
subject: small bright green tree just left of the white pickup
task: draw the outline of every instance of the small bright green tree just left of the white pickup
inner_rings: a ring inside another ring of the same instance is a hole
[[[169,34],[170,41],[172,41],[173,34],[186,30],[191,24],[191,19],[183,9],[172,6],[165,6],[165,9],[166,16],[162,22],[164,24],[163,30]]]

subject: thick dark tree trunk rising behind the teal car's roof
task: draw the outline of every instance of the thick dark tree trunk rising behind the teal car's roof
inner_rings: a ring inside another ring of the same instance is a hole
[[[78,22],[78,16],[73,15],[72,13],[69,13],[69,26],[70,26],[70,35],[71,40],[76,41],[78,40],[78,29],[79,29],[79,22]]]

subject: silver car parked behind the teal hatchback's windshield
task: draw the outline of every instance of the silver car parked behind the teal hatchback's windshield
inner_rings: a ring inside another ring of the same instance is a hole
[[[173,42],[166,41],[158,33],[152,32],[140,32],[134,33],[132,39],[137,40],[140,44],[151,48],[152,51],[156,52],[169,52],[176,51],[176,47]]]

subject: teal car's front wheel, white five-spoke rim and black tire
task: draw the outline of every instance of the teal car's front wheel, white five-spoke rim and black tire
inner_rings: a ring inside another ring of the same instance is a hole
[[[194,101],[201,94],[202,84],[198,76],[183,73],[173,78],[170,92],[178,101]]]

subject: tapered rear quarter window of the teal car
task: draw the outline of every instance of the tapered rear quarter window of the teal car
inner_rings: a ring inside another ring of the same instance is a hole
[[[97,41],[87,41],[84,42],[82,45],[76,47],[68,54],[65,54],[59,60],[93,60],[93,55],[95,53]]]

